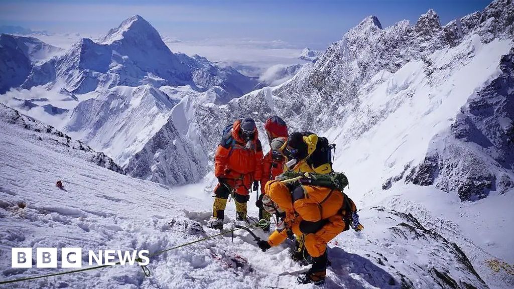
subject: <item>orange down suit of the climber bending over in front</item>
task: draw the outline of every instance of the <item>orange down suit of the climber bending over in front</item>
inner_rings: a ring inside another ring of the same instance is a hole
[[[324,254],[328,241],[348,229],[344,196],[336,189],[300,185],[292,189],[286,184],[271,180],[265,193],[286,213],[286,226],[296,236],[305,234],[305,248],[312,257]],[[352,210],[355,204],[348,200]],[[268,243],[277,246],[287,238],[286,230],[274,231]]]

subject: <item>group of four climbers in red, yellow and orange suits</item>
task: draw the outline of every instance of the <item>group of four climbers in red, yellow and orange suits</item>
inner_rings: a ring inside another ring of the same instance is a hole
[[[278,116],[269,118],[264,129],[270,151],[263,155],[258,130],[251,118],[234,121],[225,128],[214,156],[212,228],[223,228],[229,197],[236,207],[236,220],[247,221],[250,189],[261,194],[256,202],[259,219],[275,216],[277,228],[259,247],[266,251],[295,236],[297,248],[291,257],[312,264],[298,277],[300,283],[322,284],[328,262],[326,244],[352,227],[362,229],[357,208],[343,193],[347,179],[332,169],[332,150],[324,137],[314,133],[288,133]]]

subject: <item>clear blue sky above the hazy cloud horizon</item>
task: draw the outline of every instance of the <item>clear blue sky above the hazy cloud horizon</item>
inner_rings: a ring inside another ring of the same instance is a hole
[[[323,49],[365,16],[386,27],[402,19],[414,23],[434,9],[442,24],[481,10],[490,1],[1,1],[0,25],[52,32],[103,33],[140,14],[161,34],[180,40],[206,38],[272,41]]]

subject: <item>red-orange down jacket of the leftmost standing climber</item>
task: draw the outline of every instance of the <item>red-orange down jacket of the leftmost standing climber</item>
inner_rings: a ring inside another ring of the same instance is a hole
[[[247,149],[240,136],[241,120],[234,121],[232,135],[224,136],[214,155],[214,175],[240,195],[248,195],[254,180],[262,177],[262,146],[255,131],[253,147]],[[219,186],[219,185],[218,185]]]

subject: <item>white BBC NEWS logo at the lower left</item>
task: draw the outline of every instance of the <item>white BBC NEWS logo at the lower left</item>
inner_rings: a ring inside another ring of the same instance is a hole
[[[57,248],[36,248],[35,261],[37,268],[57,268]],[[13,268],[32,267],[32,248],[12,248]],[[118,261],[115,261],[118,260]],[[88,251],[89,265],[148,265],[148,250],[98,250],[98,253]],[[82,268],[82,248],[61,248],[61,268]]]

